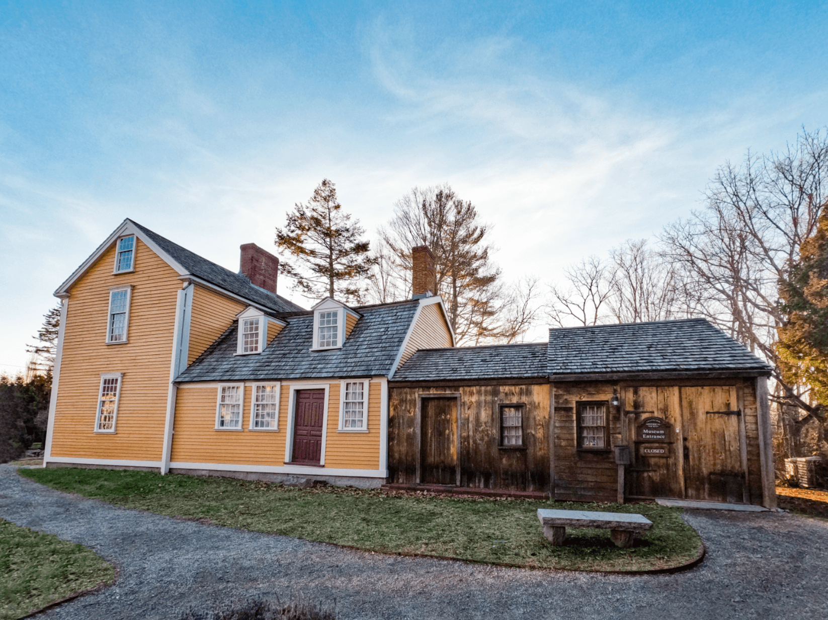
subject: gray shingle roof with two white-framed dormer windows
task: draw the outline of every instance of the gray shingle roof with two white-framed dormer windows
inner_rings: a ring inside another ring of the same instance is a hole
[[[419,303],[355,308],[362,317],[341,349],[310,351],[313,313],[285,317],[287,327],[253,356],[236,356],[238,322],[181,375],[179,381],[275,380],[388,375]]]

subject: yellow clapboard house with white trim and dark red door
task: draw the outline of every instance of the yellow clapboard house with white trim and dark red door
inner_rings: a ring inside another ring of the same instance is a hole
[[[241,250],[236,274],[124,220],[58,288],[46,467],[385,482],[388,377],[455,344],[440,297],[305,310]]]

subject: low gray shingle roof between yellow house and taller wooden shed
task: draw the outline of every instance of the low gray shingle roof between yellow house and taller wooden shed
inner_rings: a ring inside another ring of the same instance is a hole
[[[506,379],[546,376],[546,342],[416,351],[395,381]]]

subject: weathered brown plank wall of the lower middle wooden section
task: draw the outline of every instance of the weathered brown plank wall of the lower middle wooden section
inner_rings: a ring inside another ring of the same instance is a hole
[[[392,387],[389,390],[389,482],[413,483],[421,458],[417,400],[460,394],[460,486],[549,490],[549,385]],[[500,404],[525,403],[525,448],[500,448]]]

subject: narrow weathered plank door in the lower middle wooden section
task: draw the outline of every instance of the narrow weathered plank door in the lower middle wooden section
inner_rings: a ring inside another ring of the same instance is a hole
[[[457,483],[457,399],[424,398],[420,482]]]

